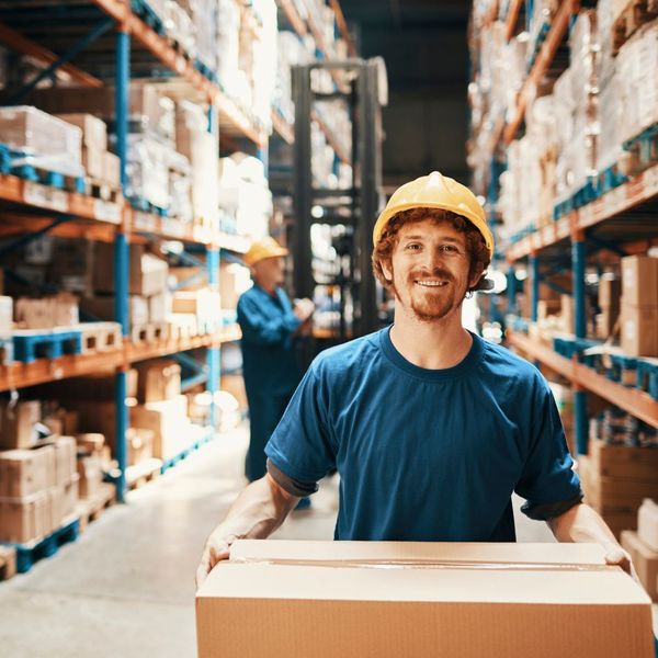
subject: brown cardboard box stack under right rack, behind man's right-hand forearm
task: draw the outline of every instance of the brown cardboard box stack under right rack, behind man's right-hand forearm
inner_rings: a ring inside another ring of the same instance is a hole
[[[578,457],[585,500],[619,537],[637,527],[637,509],[658,497],[658,450],[606,444],[590,438],[589,454]]]

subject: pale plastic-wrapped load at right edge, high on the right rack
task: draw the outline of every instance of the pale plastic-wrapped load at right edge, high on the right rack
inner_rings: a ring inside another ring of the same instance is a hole
[[[640,27],[621,48],[623,140],[658,122],[658,20]]]

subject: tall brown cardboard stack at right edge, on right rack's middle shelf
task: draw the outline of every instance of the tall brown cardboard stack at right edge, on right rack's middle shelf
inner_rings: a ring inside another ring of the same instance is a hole
[[[622,349],[658,356],[658,258],[622,259]]]

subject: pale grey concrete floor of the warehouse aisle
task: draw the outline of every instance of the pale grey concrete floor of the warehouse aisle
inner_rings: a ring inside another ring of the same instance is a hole
[[[205,537],[245,485],[247,430],[205,445],[131,494],[75,544],[0,583],[4,658],[194,657],[194,571]],[[275,536],[331,538],[336,478]],[[518,518],[520,541],[553,541]]]

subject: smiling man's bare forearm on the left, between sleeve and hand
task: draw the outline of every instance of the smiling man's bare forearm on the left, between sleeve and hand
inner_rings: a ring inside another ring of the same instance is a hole
[[[268,474],[238,496],[220,525],[236,538],[264,540],[285,521],[298,501]]]

